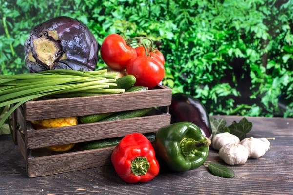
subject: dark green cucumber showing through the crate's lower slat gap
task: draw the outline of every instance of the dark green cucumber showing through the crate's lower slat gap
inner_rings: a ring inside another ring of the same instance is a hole
[[[147,133],[144,134],[146,138],[150,141],[155,140],[156,134],[155,133]],[[97,149],[97,148],[106,148],[106,147],[112,147],[119,144],[123,137],[117,137],[117,138],[111,138],[111,139],[102,139],[97,141],[89,141],[85,142],[83,145],[84,150],[90,150],[90,149]]]

